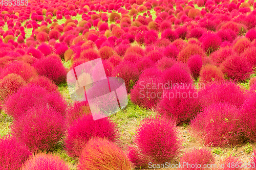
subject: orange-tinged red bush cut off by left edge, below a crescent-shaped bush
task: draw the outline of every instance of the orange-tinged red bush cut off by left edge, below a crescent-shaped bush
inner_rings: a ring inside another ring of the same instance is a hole
[[[22,77],[16,74],[9,74],[0,80],[0,100],[4,101],[8,96],[15,93],[20,87],[26,85]]]

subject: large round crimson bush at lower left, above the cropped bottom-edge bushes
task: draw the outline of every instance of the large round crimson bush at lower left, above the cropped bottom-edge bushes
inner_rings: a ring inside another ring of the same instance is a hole
[[[37,105],[16,119],[11,133],[26,143],[31,152],[49,151],[64,136],[65,118],[48,105]]]

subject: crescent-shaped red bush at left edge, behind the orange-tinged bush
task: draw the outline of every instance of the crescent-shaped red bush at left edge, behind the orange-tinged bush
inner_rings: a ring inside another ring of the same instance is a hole
[[[0,74],[0,79],[12,73],[21,76],[26,82],[37,76],[36,69],[33,66],[23,61],[16,61],[5,66]]]

